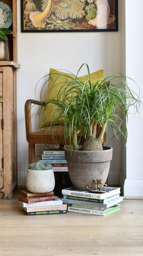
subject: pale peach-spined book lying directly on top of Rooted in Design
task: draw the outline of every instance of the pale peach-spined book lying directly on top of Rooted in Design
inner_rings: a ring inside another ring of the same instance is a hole
[[[20,205],[21,206],[21,205]],[[23,210],[26,212],[32,212],[32,211],[53,211],[53,210],[65,210],[67,209],[67,205],[49,205],[49,206],[36,206],[36,207],[23,207],[21,206]]]

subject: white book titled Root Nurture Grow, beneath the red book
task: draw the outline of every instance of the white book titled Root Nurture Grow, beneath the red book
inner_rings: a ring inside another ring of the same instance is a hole
[[[38,202],[38,203],[33,203],[33,204],[27,204],[25,202],[19,201],[20,205],[22,207],[39,207],[39,206],[50,206],[50,205],[62,205],[63,201],[58,197],[55,196],[55,200],[50,200],[50,201],[42,201],[42,202]]]

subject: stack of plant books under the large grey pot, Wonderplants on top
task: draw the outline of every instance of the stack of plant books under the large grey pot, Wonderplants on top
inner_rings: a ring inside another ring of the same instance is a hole
[[[107,215],[120,209],[120,188],[103,187],[102,192],[79,191],[74,187],[62,189],[62,201],[68,205],[68,211],[94,215]]]

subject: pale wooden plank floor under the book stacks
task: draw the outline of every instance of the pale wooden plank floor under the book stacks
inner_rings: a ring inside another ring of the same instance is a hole
[[[107,216],[27,216],[16,194],[0,199],[0,256],[143,256],[143,200]]]

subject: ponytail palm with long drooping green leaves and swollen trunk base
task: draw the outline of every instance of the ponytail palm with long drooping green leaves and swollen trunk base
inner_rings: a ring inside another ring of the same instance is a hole
[[[138,112],[140,99],[139,95],[128,86],[127,79],[130,78],[122,74],[110,74],[104,79],[99,77],[97,81],[91,83],[89,67],[85,65],[88,70],[88,80],[82,82],[78,78],[82,66],[76,76],[70,72],[61,74],[60,76],[70,77],[71,80],[61,86],[56,98],[46,100],[45,106],[54,104],[54,108],[58,109],[51,122],[51,133],[54,125],[62,119],[60,125],[64,127],[64,138],[70,140],[70,145],[71,142],[73,143],[74,150],[78,150],[83,134],[85,142],[82,150],[102,150],[103,135],[108,125],[111,126],[114,136],[118,138],[121,135],[127,140],[126,125],[130,107],[134,116]],[[56,77],[59,77],[59,74],[54,73],[53,76],[55,83],[51,90],[54,90]],[[41,101],[39,113],[45,106]],[[99,134],[97,134],[97,125],[100,127]],[[56,136],[54,139],[56,141]]]

